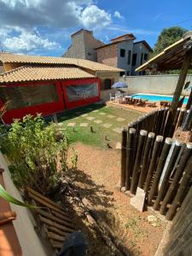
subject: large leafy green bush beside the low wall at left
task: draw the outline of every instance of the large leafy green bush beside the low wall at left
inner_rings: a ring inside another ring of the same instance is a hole
[[[11,163],[12,178],[20,189],[29,186],[46,195],[55,189],[68,169],[66,131],[58,134],[56,125],[47,125],[40,115],[26,115],[22,121],[15,119],[7,136],[1,137],[1,147]],[[74,160],[73,165],[76,165]]]

